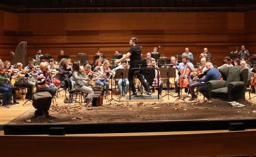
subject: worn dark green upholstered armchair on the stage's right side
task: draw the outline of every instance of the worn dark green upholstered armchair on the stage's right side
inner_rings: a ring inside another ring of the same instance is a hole
[[[241,66],[225,67],[220,70],[223,80],[207,82],[209,98],[235,101],[245,99],[248,69]]]

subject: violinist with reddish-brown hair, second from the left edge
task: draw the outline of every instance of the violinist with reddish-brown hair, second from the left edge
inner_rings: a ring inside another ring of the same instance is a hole
[[[13,69],[11,69],[11,62],[10,61],[5,61],[4,62],[4,71],[5,74],[2,75],[2,77],[10,78],[13,74]],[[19,104],[19,102],[16,100],[16,90],[14,86],[9,82],[5,81],[4,86],[9,89],[9,91],[12,92],[12,97],[13,97],[13,103],[14,104]]]

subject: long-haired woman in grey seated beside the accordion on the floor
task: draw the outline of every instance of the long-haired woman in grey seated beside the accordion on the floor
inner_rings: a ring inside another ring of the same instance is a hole
[[[88,93],[87,95],[87,103],[86,106],[88,106],[92,101],[92,96],[94,95],[94,91],[92,91],[92,88],[85,86],[85,81],[88,81],[89,78],[85,73],[79,72],[79,63],[74,62],[73,63],[73,78],[75,80],[75,89],[84,93]]]

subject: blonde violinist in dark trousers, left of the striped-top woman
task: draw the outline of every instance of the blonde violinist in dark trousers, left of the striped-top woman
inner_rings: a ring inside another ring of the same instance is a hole
[[[14,69],[13,76],[11,76],[12,79],[15,80],[14,86],[17,87],[27,87],[27,94],[25,99],[32,100],[32,89],[33,89],[33,84],[30,84],[29,82],[26,82],[26,77],[25,74],[22,74],[23,64],[18,62],[16,64],[16,69]]]

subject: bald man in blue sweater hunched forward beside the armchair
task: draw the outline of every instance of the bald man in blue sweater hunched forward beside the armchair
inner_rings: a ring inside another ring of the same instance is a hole
[[[204,82],[203,85],[199,87],[199,92],[208,99],[208,86],[206,82],[210,80],[219,80],[220,74],[219,71],[213,67],[211,62],[206,63],[206,68],[209,69],[209,71],[206,73],[206,76],[204,78],[198,79],[197,81]]]

